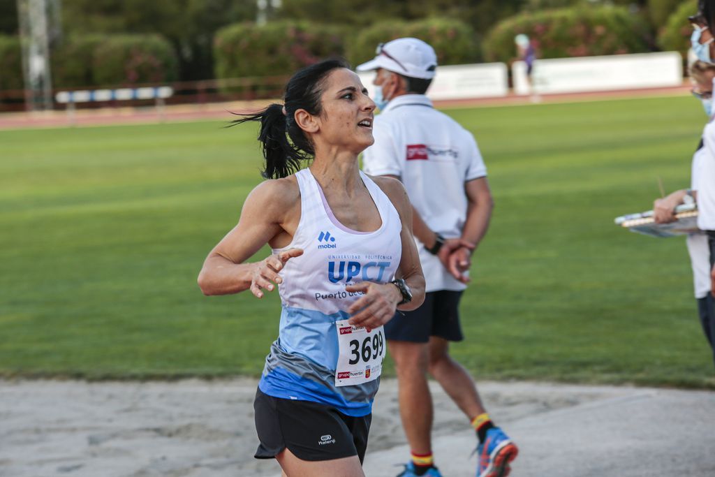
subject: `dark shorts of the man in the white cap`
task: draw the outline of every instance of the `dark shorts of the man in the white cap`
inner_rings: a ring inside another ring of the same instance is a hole
[[[425,303],[413,311],[398,311],[385,324],[385,338],[395,341],[427,343],[430,336],[461,341],[459,300],[461,291],[439,290],[425,293]]]

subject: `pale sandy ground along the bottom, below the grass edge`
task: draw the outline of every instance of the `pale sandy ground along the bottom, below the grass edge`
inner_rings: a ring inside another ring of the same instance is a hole
[[[1,477],[280,476],[257,461],[255,380],[84,383],[0,380]],[[375,402],[367,476],[408,458],[394,380]],[[521,448],[519,476],[715,476],[715,393],[483,383]],[[473,476],[475,436],[435,386],[434,448],[445,476]]]

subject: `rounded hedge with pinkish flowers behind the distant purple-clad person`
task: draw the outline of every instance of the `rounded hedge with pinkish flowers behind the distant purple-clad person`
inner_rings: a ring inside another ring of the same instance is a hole
[[[541,58],[598,56],[651,51],[646,22],[620,6],[581,5],[512,16],[497,24],[484,42],[489,61],[515,56],[514,36],[527,34]]]

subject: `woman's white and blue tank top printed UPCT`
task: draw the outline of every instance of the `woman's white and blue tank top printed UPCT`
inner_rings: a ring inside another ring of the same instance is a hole
[[[333,215],[310,169],[295,177],[300,222],[290,245],[273,252],[300,248],[303,255],[288,260],[280,272],[280,332],[266,357],[259,387],[276,398],[332,405],[355,417],[368,415],[380,379],[335,384],[336,322],[350,318],[347,308],[361,296],[347,292],[346,285],[393,280],[402,254],[400,216],[380,187],[360,172],[382,224],[374,232],[351,230]]]

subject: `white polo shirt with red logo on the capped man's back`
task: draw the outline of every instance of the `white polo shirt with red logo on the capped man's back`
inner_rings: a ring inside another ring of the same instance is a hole
[[[375,144],[363,154],[371,175],[400,177],[410,202],[434,232],[460,237],[467,216],[465,182],[487,174],[473,135],[435,110],[423,94],[392,99],[375,117]],[[464,290],[418,240],[427,291]]]

